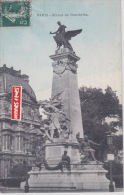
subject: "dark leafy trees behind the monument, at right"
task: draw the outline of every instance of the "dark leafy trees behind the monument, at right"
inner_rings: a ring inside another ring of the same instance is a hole
[[[122,127],[122,105],[116,92],[107,87],[105,92],[101,88],[81,87],[79,90],[84,134],[89,139],[101,143],[99,160],[104,160],[107,151],[106,135],[115,133],[117,127]],[[107,123],[106,119],[115,118],[116,121]],[[122,136],[115,135],[115,152],[122,148]],[[119,141],[120,140],[120,141]],[[97,148],[96,148],[97,149]],[[98,154],[98,152],[96,152]]]

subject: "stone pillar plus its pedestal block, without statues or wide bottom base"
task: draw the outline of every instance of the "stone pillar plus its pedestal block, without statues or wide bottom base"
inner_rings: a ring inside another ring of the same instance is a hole
[[[68,118],[68,124],[67,127],[63,128],[63,132],[59,133],[59,137],[53,139],[54,144],[46,144],[46,160],[49,163],[53,161],[54,164],[56,156],[59,162],[63,151],[67,149],[72,163],[79,163],[80,154],[76,134],[80,132],[81,137],[83,137],[76,64],[79,57],[68,48],[62,48],[57,50],[56,54],[50,56],[50,58],[53,60],[51,98],[59,95],[58,98],[61,99],[63,104],[62,111]]]

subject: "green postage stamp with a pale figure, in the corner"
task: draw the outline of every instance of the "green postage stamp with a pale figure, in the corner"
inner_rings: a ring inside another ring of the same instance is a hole
[[[0,27],[28,27],[31,0],[0,0]]]

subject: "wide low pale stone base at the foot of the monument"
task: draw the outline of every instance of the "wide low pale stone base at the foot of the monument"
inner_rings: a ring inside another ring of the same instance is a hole
[[[30,192],[41,191],[106,191],[109,188],[109,180],[106,178],[106,170],[102,165],[71,165],[71,172],[64,170],[48,171],[32,170],[29,172]],[[21,183],[24,189],[25,182]]]

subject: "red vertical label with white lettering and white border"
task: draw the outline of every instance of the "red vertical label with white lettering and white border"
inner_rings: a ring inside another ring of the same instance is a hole
[[[22,87],[12,86],[12,120],[21,120]]]

